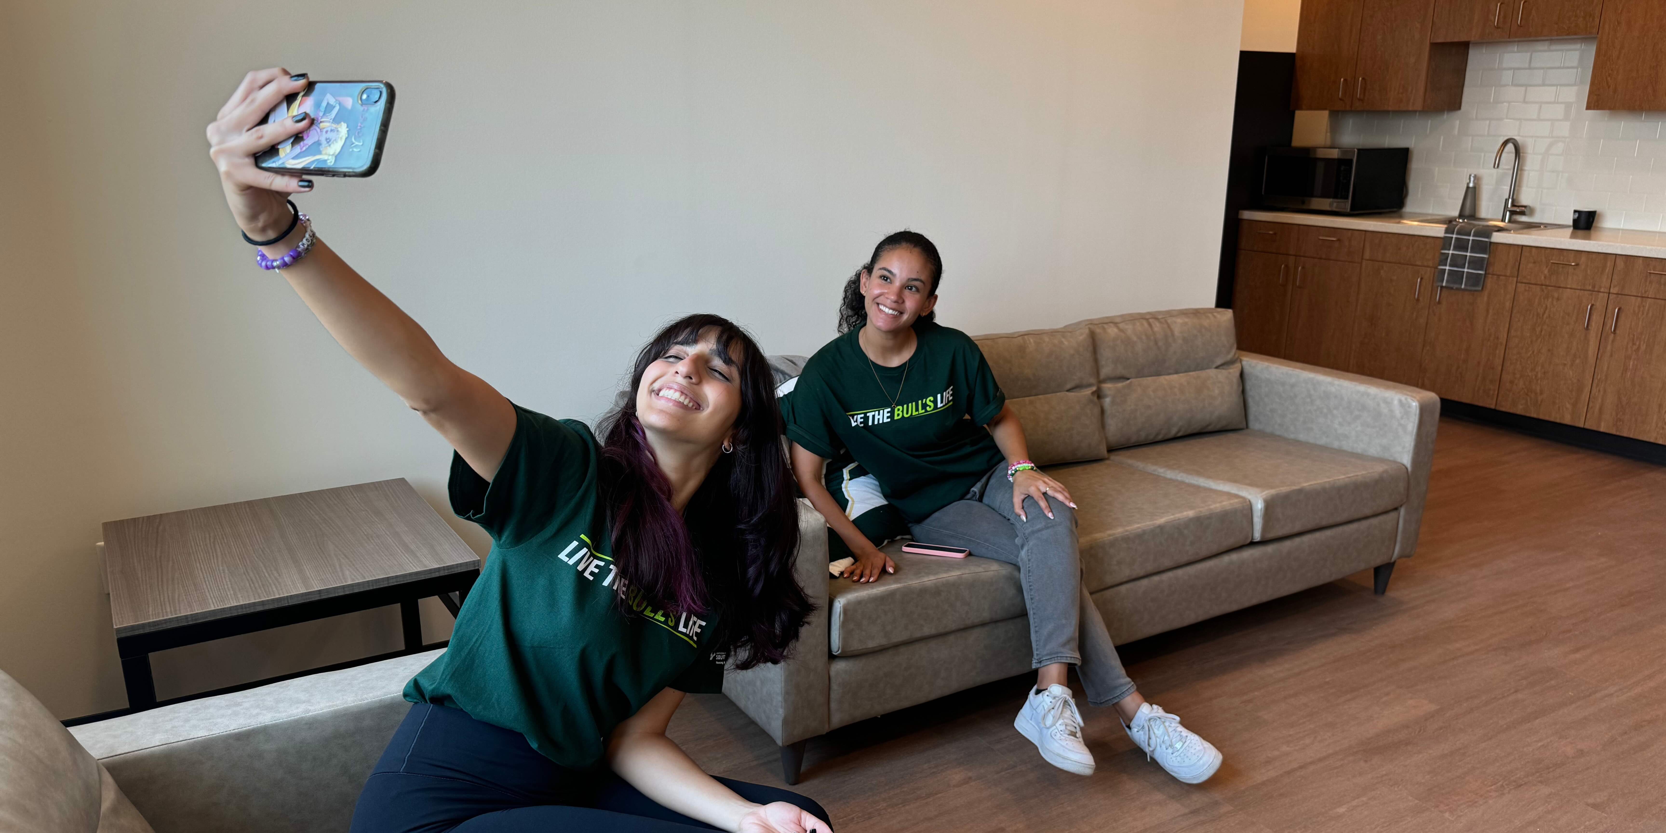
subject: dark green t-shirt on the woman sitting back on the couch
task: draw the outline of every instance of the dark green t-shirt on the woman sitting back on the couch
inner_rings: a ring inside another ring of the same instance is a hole
[[[781,398],[786,436],[830,460],[850,450],[885,498],[918,523],[966,496],[1005,460],[983,426],[1001,413],[1006,395],[983,350],[960,330],[915,323],[915,355],[895,368],[868,360],[860,332],[810,357]]]

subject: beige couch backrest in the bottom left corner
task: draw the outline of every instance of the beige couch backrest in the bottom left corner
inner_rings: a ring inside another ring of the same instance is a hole
[[[0,830],[152,833],[110,773],[0,671]]]

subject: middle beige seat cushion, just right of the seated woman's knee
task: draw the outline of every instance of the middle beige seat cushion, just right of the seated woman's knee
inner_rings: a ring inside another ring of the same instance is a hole
[[[1081,506],[1076,531],[1090,593],[1250,543],[1250,500],[1118,465],[1048,470]]]

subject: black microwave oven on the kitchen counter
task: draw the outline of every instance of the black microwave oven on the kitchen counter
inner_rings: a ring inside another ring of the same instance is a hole
[[[1261,205],[1371,213],[1406,207],[1411,148],[1266,148]]]

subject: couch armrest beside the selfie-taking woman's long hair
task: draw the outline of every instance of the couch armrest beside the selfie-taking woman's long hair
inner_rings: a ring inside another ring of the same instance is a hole
[[[828,525],[803,498],[793,575],[816,606],[798,631],[793,655],[723,678],[723,693],[781,746],[828,730]]]

